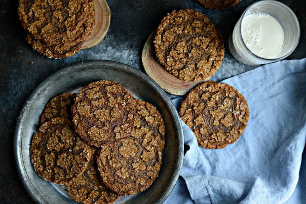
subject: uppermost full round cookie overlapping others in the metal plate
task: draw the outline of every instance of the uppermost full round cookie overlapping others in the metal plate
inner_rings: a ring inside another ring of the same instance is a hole
[[[72,113],[82,139],[98,147],[113,144],[131,135],[135,99],[114,81],[96,81],[80,90]]]

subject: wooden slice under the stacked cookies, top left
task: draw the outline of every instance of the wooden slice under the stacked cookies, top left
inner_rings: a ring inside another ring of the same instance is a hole
[[[99,44],[107,34],[111,24],[111,9],[106,0],[93,0],[95,5],[95,25],[81,49],[88,49]]]

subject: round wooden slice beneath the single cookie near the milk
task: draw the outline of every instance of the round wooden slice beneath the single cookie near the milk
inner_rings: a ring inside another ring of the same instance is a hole
[[[144,49],[142,51],[142,63],[147,72],[147,74],[166,92],[183,96],[187,94],[194,86],[197,84],[207,81],[210,77],[205,80],[199,81],[184,81],[181,80],[162,67],[162,65],[155,58],[155,50],[153,39],[155,36],[155,31],[148,37]]]

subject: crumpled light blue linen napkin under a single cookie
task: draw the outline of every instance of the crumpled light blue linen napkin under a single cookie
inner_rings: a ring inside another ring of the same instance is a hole
[[[247,100],[250,118],[224,149],[189,146],[165,204],[306,203],[306,58],[268,64],[222,81]],[[173,100],[179,109],[183,98]],[[299,179],[300,172],[300,179]]]

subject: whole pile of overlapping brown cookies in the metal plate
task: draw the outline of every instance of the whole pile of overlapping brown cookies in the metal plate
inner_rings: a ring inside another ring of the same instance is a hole
[[[114,81],[54,97],[40,124],[30,149],[33,167],[45,180],[65,184],[77,202],[114,203],[158,177],[162,116]]]

